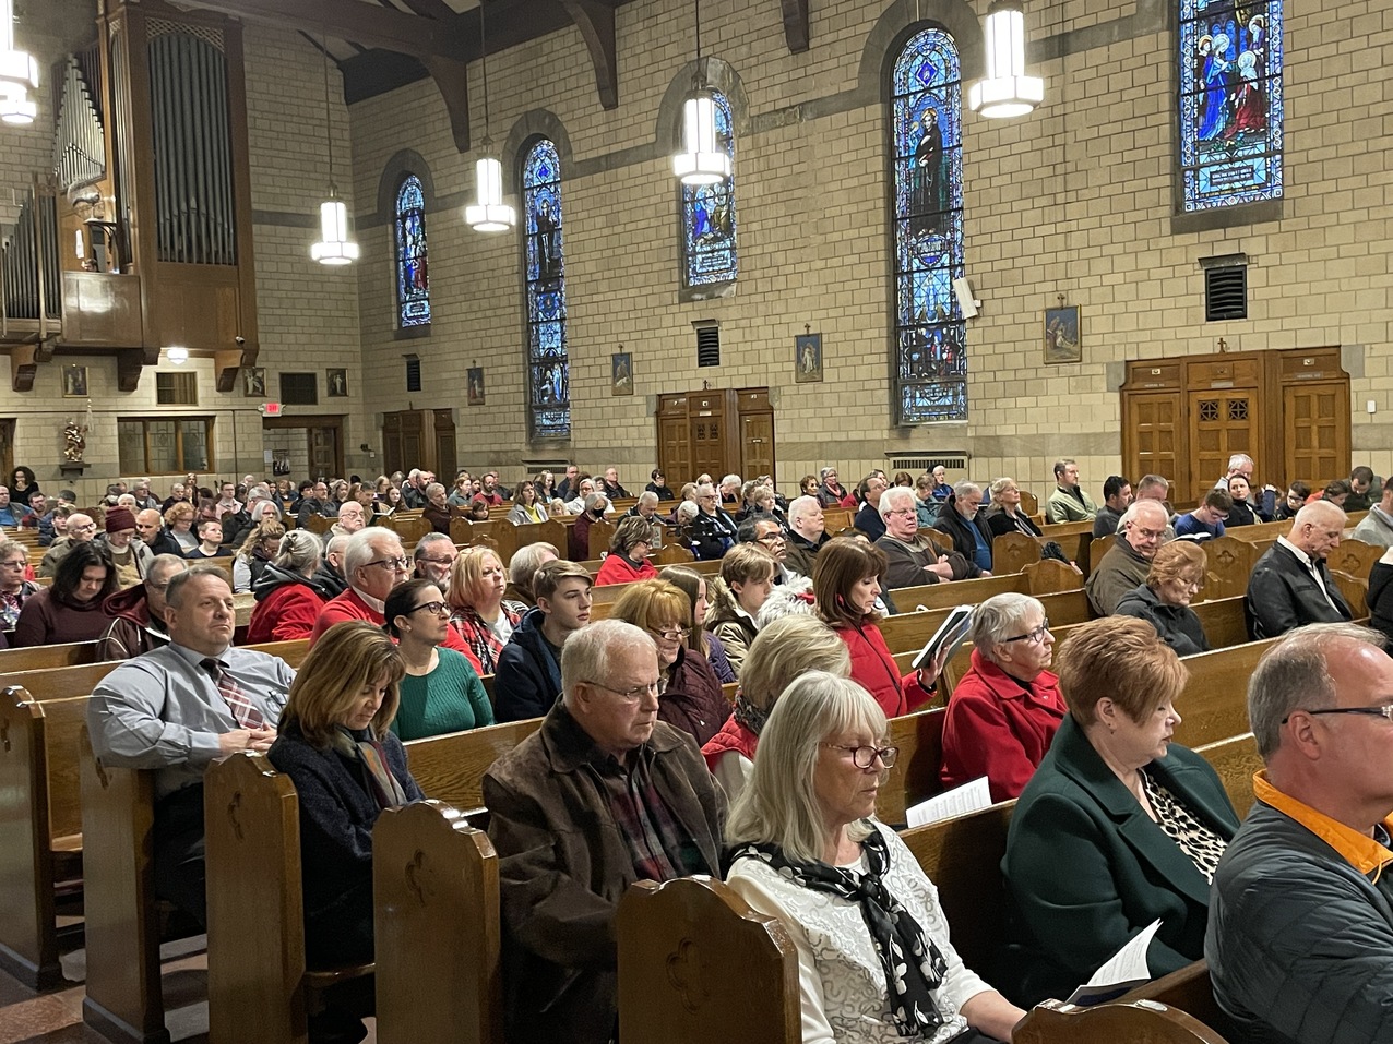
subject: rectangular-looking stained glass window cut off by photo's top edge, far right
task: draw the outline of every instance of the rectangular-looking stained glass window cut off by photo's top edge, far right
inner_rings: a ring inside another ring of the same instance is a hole
[[[1282,198],[1282,0],[1180,0],[1187,212]]]

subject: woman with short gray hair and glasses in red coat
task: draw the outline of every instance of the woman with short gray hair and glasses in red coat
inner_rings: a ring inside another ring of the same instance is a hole
[[[953,686],[943,718],[946,788],[986,777],[993,802],[1018,798],[1064,720],[1049,671],[1055,636],[1029,594],[997,594],[972,614],[972,665]]]

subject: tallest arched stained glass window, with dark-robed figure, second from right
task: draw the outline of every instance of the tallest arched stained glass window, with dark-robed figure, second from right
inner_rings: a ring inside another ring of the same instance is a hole
[[[967,420],[963,276],[963,84],[953,38],[905,42],[892,82],[894,127],[894,394],[900,425]]]

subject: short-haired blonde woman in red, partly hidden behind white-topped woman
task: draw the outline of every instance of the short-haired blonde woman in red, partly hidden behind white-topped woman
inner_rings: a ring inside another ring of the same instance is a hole
[[[736,711],[701,749],[730,800],[736,800],[749,782],[759,735],[775,703],[808,671],[826,671],[839,678],[851,674],[846,643],[820,619],[780,617],[749,646],[736,693]]]

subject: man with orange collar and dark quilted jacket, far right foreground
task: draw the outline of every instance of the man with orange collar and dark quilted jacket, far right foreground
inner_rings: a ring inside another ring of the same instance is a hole
[[[1266,766],[1209,898],[1234,1040],[1393,1040],[1393,660],[1351,624],[1283,638],[1248,681]]]

